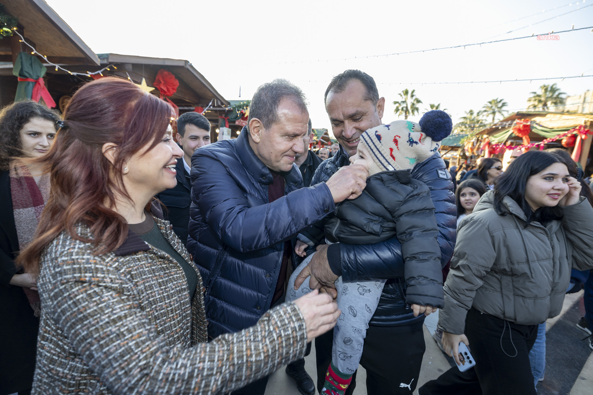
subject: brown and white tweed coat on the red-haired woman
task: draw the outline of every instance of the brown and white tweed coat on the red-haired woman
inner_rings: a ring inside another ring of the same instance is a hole
[[[168,221],[155,221],[203,290]],[[89,235],[86,226],[77,231]],[[62,232],[43,252],[33,394],[222,394],[304,355],[295,304],[206,343],[203,293],[190,303],[173,258],[131,231],[115,252],[94,256],[92,248]]]

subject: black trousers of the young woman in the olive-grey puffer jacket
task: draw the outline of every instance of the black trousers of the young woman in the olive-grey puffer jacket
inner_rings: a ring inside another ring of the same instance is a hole
[[[536,394],[529,352],[537,325],[517,325],[472,308],[467,312],[466,336],[476,366],[465,372],[452,367],[422,386],[420,395]]]

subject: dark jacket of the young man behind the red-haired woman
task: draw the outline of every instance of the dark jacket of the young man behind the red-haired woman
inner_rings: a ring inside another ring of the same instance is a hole
[[[192,181],[183,165],[183,158],[177,159],[175,169],[177,171],[176,187],[162,191],[156,198],[165,206],[163,210],[165,220],[173,225],[173,232],[181,239],[183,245],[186,245],[189,206],[192,203]]]

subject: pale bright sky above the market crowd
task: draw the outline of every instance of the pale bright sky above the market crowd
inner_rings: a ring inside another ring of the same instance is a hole
[[[313,127],[329,130],[323,94],[331,77],[346,69],[364,70],[375,79],[387,101],[384,123],[397,118],[392,102],[404,88],[416,89],[422,111],[441,103],[454,122],[492,98],[504,98],[509,110],[525,108],[530,92],[544,83],[556,82],[569,95],[593,89],[593,77],[410,84],[593,74],[591,28],[560,33],[557,41],[534,37],[344,60],[593,26],[593,0],[46,1],[94,52],[187,59],[226,99],[239,99],[239,86],[241,99],[250,99],[257,86],[286,78],[307,95]]]

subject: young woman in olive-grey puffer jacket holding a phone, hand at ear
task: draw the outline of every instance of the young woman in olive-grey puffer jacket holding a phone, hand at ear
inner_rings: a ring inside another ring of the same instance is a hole
[[[560,313],[570,269],[593,268],[593,207],[580,192],[557,156],[530,151],[461,221],[439,327],[447,354],[460,365],[464,342],[476,366],[451,368],[420,395],[535,394],[538,325]]]

